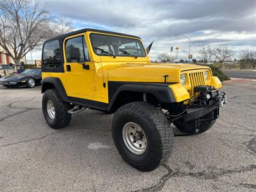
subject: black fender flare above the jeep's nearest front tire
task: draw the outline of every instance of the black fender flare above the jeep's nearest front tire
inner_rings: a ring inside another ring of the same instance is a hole
[[[113,104],[115,103],[116,97],[121,92],[140,92],[140,93],[150,93],[154,95],[159,102],[176,102],[173,95],[172,89],[169,88],[168,84],[157,84],[157,83],[125,83],[117,88],[113,97],[109,98],[108,111],[111,111]]]

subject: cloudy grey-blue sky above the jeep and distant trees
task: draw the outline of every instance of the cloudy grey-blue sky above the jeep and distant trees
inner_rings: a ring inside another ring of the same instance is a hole
[[[163,52],[186,60],[189,39],[191,54],[197,60],[198,50],[206,46],[228,46],[236,58],[242,51],[256,51],[256,0],[40,2],[52,15],[71,20],[75,29],[95,28],[140,36],[145,47],[154,41],[151,60],[157,60]],[[179,51],[171,52],[171,47],[179,47]],[[32,55],[33,59],[40,59],[39,51]]]

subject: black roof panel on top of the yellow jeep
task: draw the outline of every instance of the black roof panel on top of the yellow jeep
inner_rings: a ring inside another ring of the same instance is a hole
[[[129,36],[129,37],[132,37],[132,38],[140,38],[139,36],[128,35],[128,34],[124,34],[124,33],[116,33],[116,32],[112,32],[112,31],[104,31],[104,30],[99,30],[99,29],[84,28],[84,29],[79,29],[77,31],[72,31],[70,33],[65,33],[65,34],[60,35],[60,36],[56,36],[54,38],[46,40],[45,42],[48,42],[48,41],[51,41],[51,40],[56,40],[56,39],[60,40],[60,42],[63,42],[63,40],[68,36],[76,35],[76,34],[79,34],[79,33],[85,33],[86,31],[98,32],[98,33],[108,33],[108,34],[113,34],[113,35]]]

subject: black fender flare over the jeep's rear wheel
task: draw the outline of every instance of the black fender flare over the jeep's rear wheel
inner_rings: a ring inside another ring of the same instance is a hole
[[[65,88],[58,77],[45,77],[42,81],[41,93],[44,93],[46,90],[52,88],[52,86],[54,86],[56,92],[62,100],[68,100]]]

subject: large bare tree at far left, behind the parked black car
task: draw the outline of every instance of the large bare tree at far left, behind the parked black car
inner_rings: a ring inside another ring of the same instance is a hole
[[[36,0],[0,0],[0,46],[15,64],[45,39],[66,33],[71,26],[65,19],[52,19]]]

